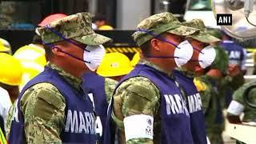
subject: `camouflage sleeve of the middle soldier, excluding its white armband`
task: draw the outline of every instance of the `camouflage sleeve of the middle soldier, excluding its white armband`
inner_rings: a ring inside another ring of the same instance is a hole
[[[158,88],[148,78],[130,78],[122,82],[114,94],[114,115],[122,122],[123,118],[134,114],[146,114],[154,117],[158,113],[159,98]],[[155,119],[154,122],[156,122]],[[121,137],[121,143],[125,143],[124,135]],[[126,143],[154,142],[148,138],[134,138]]]

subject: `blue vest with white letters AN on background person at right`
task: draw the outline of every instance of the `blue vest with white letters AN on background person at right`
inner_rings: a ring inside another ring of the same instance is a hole
[[[233,41],[224,41],[220,46],[224,47],[227,54],[229,54],[230,64],[238,64],[239,66],[242,66],[242,60],[246,57],[242,46],[237,45]]]

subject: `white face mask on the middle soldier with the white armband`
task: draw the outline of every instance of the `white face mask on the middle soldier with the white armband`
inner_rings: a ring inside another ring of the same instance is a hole
[[[183,41],[174,50],[174,60],[178,67],[185,65],[192,58],[194,49],[190,42]]]

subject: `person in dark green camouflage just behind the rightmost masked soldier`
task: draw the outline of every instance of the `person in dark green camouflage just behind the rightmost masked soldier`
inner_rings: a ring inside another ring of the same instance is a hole
[[[206,74],[196,78],[195,84],[202,98],[206,118],[206,132],[211,143],[221,144],[224,119],[222,109],[224,106],[225,90],[223,90],[222,77],[226,75],[228,55],[221,47],[214,46],[216,58],[207,68]]]

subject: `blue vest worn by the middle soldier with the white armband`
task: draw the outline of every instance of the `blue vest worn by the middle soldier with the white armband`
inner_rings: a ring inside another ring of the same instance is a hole
[[[122,78],[118,86],[123,81],[136,76],[149,78],[150,81],[154,82],[154,85],[158,87],[158,90],[160,90],[161,106],[159,108],[159,112],[161,115],[161,143],[194,143],[190,130],[190,116],[186,109],[186,104],[182,98],[182,94],[175,85],[174,79],[150,66],[138,64],[130,74]],[[114,123],[112,123],[110,119],[113,107],[112,101],[113,99],[110,102],[108,116],[106,119],[106,127],[108,128],[106,128],[107,131],[105,136],[108,142],[105,143],[108,144],[113,143],[114,141],[114,133],[111,130],[115,130],[115,128],[111,127],[114,126]]]

